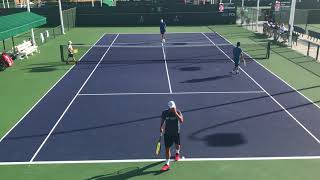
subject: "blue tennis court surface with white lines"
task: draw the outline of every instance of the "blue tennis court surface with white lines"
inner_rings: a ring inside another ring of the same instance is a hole
[[[217,33],[105,34],[0,142],[0,162],[152,160],[160,115],[188,158],[320,156],[320,109]]]

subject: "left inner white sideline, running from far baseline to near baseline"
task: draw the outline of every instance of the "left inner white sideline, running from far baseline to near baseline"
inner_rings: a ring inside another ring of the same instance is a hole
[[[56,122],[56,124],[53,126],[53,128],[51,129],[51,131],[49,132],[49,134],[47,135],[46,139],[42,142],[42,144],[40,145],[40,147],[38,148],[38,150],[36,151],[36,153],[33,155],[33,157],[31,158],[30,162],[33,162],[33,160],[37,157],[38,153],[40,152],[40,150],[42,149],[42,147],[44,146],[44,144],[47,142],[47,140],[49,139],[50,135],[52,134],[52,132],[54,131],[54,129],[57,127],[57,125],[59,124],[59,122],[61,121],[61,119],[63,118],[63,116],[65,115],[65,113],[68,111],[68,109],[70,108],[70,106],[72,105],[72,103],[74,102],[74,100],[77,98],[78,94],[80,93],[80,91],[83,89],[83,87],[87,84],[88,80],[90,79],[90,77],[92,76],[92,74],[95,72],[95,70],[97,69],[97,67],[99,66],[99,64],[101,63],[101,61],[103,60],[103,58],[105,57],[105,55],[109,52],[110,48],[112,47],[112,44],[116,41],[116,39],[118,38],[119,34],[114,38],[114,40],[112,41],[110,47],[106,50],[106,52],[103,54],[103,56],[101,57],[100,61],[97,63],[97,65],[95,66],[95,68],[92,70],[92,72],[90,73],[90,75],[88,76],[88,78],[86,79],[86,81],[82,84],[82,86],[80,87],[80,89],[78,90],[77,94],[73,97],[73,99],[71,100],[71,102],[69,103],[69,105],[67,106],[67,108],[64,110],[64,112],[62,113],[62,115],[60,116],[60,118],[58,119],[58,121]]]

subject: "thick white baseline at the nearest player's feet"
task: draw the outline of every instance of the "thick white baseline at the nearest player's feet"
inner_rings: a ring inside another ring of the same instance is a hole
[[[275,160],[317,160],[320,156],[287,156],[287,157],[239,157],[239,158],[188,158],[179,161],[275,161]],[[50,165],[50,164],[106,164],[106,163],[142,163],[161,162],[165,159],[124,159],[124,160],[79,160],[79,161],[34,161],[34,162],[0,162],[0,166],[14,165]],[[173,161],[173,160],[172,160]]]

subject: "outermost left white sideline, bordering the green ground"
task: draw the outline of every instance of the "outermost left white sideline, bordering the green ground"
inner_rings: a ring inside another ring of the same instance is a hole
[[[95,43],[97,44],[103,37],[105,34],[103,34],[98,41]],[[81,59],[93,48],[90,47],[88,49],[87,52],[85,52],[79,59],[79,61],[81,61]],[[62,77],[20,118],[20,120],[13,126],[11,127],[11,129],[9,131],[7,131],[7,133],[0,139],[0,142],[2,142],[7,136],[8,134],[39,104],[39,102],[73,69],[73,67],[75,66],[75,64],[73,66],[71,66],[71,68],[62,75]]]

